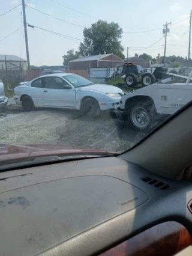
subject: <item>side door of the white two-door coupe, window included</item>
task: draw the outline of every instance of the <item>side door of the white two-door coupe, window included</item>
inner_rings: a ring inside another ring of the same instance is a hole
[[[43,106],[75,108],[76,96],[74,87],[71,87],[61,77],[44,77],[43,87]]]

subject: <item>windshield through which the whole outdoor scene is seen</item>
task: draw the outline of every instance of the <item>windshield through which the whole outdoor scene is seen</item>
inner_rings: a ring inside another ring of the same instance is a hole
[[[121,154],[192,100],[191,1],[2,2],[0,168]]]

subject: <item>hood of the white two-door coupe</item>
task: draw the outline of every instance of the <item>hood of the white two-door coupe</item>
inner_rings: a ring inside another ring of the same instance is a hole
[[[100,91],[101,93],[122,93],[122,90],[113,85],[94,84],[79,88],[82,91]]]

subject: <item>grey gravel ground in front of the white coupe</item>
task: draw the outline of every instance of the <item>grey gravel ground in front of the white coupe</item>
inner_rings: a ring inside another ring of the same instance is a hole
[[[77,111],[66,109],[25,112],[13,101],[2,112],[1,143],[53,143],[124,151],[145,135],[124,127],[109,113],[91,119],[77,117]]]

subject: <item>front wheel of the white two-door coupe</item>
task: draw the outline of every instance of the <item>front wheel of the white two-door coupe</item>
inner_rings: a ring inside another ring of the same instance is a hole
[[[98,117],[101,114],[100,105],[97,100],[92,97],[83,100],[80,106],[80,116],[86,115],[86,117]]]

